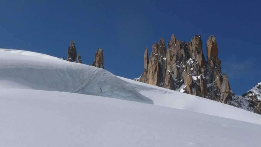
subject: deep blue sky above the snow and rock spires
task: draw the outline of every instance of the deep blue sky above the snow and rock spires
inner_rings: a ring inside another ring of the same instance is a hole
[[[155,41],[174,34],[189,42],[214,35],[223,73],[241,95],[261,82],[261,3],[259,1],[11,1],[1,0],[0,48],[67,58],[71,40],[84,64],[98,47],[104,67],[137,78],[143,54]]]

